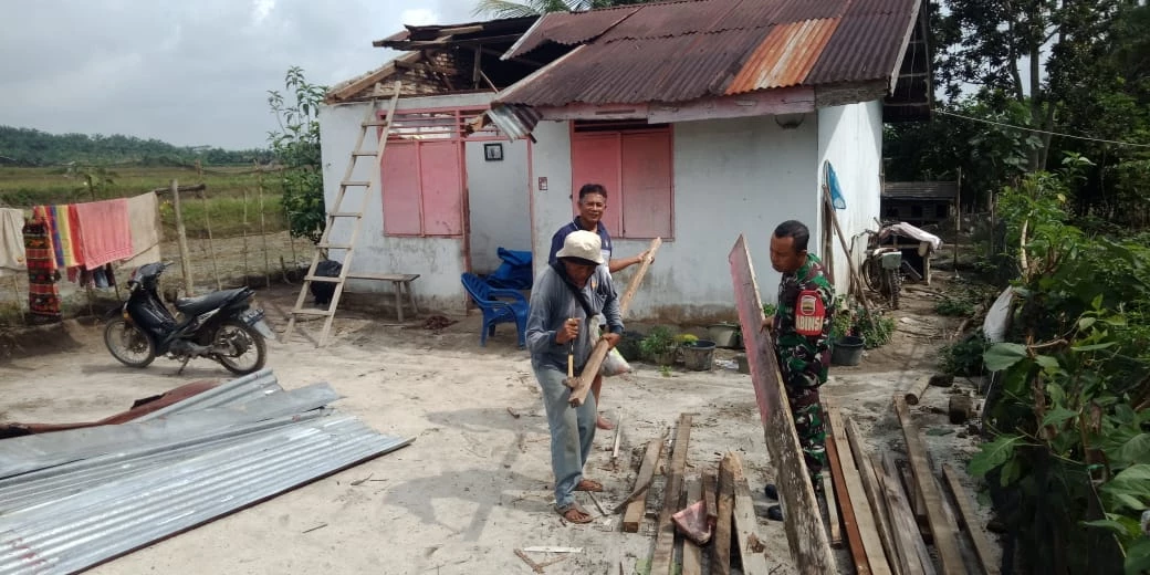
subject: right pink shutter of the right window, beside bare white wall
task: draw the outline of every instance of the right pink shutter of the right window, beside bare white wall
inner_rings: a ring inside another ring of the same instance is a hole
[[[628,238],[669,238],[673,204],[670,132],[624,133],[620,233]]]

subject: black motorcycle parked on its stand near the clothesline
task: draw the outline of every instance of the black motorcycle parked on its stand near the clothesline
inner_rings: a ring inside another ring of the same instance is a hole
[[[171,263],[148,263],[132,273],[128,300],[108,314],[103,344],[121,363],[145,368],[156,355],[182,361],[179,371],[193,358],[217,361],[229,371],[244,375],[263,368],[264,339],[275,334],[262,309],[252,308],[255,291],[250,288],[222,290],[195,298],[176,299],[176,316],[160,299],[160,275]],[[245,360],[252,353],[254,358]]]

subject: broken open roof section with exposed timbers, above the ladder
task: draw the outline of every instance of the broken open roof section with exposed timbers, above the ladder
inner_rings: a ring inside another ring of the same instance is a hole
[[[540,51],[535,59],[501,60],[538,16],[450,25],[405,26],[371,43],[405,52],[394,60],[328,90],[328,103],[390,97],[394,80],[401,95],[496,92],[522,79],[559,54]]]

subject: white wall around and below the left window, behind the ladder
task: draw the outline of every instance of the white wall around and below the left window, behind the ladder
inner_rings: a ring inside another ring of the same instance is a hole
[[[489,94],[461,94],[399,100],[398,109],[438,108],[452,106],[485,106]],[[351,153],[359,136],[360,122],[367,103],[323,106],[320,110],[320,143],[323,159],[323,192],[329,209],[339,192],[339,182],[351,161]],[[365,144],[371,150],[374,144]],[[371,158],[356,162],[353,181],[367,181],[369,170],[376,169]],[[378,179],[378,178],[376,178]],[[344,210],[354,210],[362,199],[362,187],[348,189]],[[422,310],[462,313],[466,293],[459,282],[463,273],[462,238],[394,238],[383,233],[383,204],[377,189],[373,189],[365,212],[352,270],[375,274],[420,274],[412,291]],[[344,243],[351,235],[351,220],[336,223],[332,243]],[[344,253],[334,251],[331,256],[343,261]],[[391,284],[382,282],[348,282],[350,292],[389,291]]]

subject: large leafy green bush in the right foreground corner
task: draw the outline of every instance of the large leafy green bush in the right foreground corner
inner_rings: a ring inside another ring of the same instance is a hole
[[[1073,168],[1073,166],[1071,166]],[[1150,538],[1150,248],[1067,224],[1065,182],[1027,176],[999,207],[1021,271],[1010,342],[989,346],[995,436],[971,461],[1034,573],[1142,573]]]

